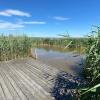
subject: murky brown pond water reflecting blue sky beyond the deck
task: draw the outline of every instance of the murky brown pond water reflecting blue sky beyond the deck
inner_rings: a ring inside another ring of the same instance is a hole
[[[37,59],[56,67],[61,71],[78,73],[82,69],[84,55],[74,49],[62,49],[52,47],[36,48]]]

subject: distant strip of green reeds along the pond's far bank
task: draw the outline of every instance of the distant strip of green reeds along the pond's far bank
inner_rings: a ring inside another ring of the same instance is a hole
[[[60,37],[60,38],[31,38],[33,46],[53,46],[59,48],[65,48],[71,41],[71,45],[68,48],[85,48],[87,47],[88,38],[72,38],[72,37]]]

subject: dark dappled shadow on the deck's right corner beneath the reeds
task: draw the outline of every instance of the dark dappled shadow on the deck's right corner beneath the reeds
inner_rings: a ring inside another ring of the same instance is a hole
[[[79,100],[77,88],[83,86],[85,86],[85,82],[82,77],[61,72],[56,77],[51,94],[55,97],[55,100]]]

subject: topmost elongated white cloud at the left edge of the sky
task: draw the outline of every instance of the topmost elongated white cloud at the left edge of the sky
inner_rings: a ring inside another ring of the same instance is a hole
[[[2,15],[2,16],[16,15],[16,16],[25,16],[25,17],[30,17],[31,16],[27,12],[23,12],[23,11],[20,11],[20,10],[13,10],[13,9],[7,9],[7,10],[4,10],[4,11],[0,11],[0,15]]]

